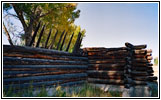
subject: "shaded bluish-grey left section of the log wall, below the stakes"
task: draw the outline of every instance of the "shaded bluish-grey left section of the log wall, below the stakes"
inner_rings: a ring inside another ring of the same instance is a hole
[[[15,89],[69,86],[86,81],[88,59],[42,48],[3,46],[3,86]]]

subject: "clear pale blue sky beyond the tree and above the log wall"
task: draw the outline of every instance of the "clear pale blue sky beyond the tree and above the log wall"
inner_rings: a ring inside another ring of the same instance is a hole
[[[79,3],[75,24],[86,29],[83,47],[122,47],[147,44],[158,56],[157,3]],[[3,44],[8,44],[3,34]]]

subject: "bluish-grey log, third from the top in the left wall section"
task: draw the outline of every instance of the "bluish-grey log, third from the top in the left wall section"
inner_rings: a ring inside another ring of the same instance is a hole
[[[64,61],[64,60],[47,60],[47,59],[32,59],[32,58],[14,58],[3,57],[4,65],[86,65],[83,61]]]

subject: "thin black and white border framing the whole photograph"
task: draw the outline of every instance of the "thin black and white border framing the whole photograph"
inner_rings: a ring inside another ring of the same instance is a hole
[[[156,2],[156,3],[158,3],[158,17],[159,17],[159,60],[160,60],[160,1],[1,1],[1,12],[3,12],[2,11],[2,7],[3,7],[3,5],[2,5],[2,3],[3,2],[21,2],[21,3],[23,3],[23,2],[65,2],[65,3],[68,3],[68,2],[101,2],[101,3],[106,3],[106,2],[118,2],[118,3],[120,3],[120,2]],[[70,97],[66,97],[66,98],[58,98],[58,97],[53,97],[53,98],[36,98],[36,97],[33,97],[33,98],[28,98],[28,97],[26,97],[26,98],[7,98],[7,97],[3,97],[2,96],[2,92],[3,92],[3,90],[2,90],[2,55],[3,55],[3,53],[2,53],[2,48],[3,48],[3,44],[2,44],[2,34],[3,34],[3,31],[2,31],[3,29],[2,29],[2,13],[1,13],[1,99],[160,99],[160,78],[158,79],[159,80],[159,82],[158,82],[158,84],[159,84],[159,98],[153,98],[153,97],[149,97],[149,98],[110,98],[110,97],[107,97],[107,98],[101,98],[101,97],[99,97],[99,98],[95,98],[95,97],[91,97],[91,98],[70,98]],[[159,61],[159,76],[160,76],[160,61]]]

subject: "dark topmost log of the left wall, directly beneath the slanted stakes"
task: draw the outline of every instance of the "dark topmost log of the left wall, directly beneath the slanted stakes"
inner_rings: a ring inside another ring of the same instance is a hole
[[[64,51],[48,50],[43,48],[33,48],[27,46],[10,46],[3,45],[3,53],[21,52],[30,54],[46,54],[46,55],[63,55],[63,56],[78,56],[77,54],[72,54]],[[80,56],[80,55],[79,55]]]

